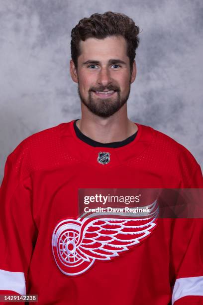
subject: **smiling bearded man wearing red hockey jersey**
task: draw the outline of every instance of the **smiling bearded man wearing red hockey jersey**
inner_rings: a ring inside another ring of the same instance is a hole
[[[79,189],[203,187],[187,149],[127,117],[138,33],[113,12],[72,30],[82,117],[28,137],[6,160],[1,293],[36,294],[40,305],[203,304],[202,220],[79,214]]]

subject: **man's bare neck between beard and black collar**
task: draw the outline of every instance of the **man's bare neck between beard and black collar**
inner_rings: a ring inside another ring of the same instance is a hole
[[[123,141],[137,131],[137,126],[128,119],[126,105],[109,118],[101,118],[87,111],[82,104],[82,117],[77,127],[87,137],[100,143]]]

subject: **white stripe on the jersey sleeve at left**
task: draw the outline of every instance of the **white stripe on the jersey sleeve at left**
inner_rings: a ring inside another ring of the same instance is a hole
[[[25,295],[25,277],[23,272],[10,272],[0,269],[0,290],[11,290]]]

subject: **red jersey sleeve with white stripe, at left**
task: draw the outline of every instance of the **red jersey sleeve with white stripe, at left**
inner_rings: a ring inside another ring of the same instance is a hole
[[[0,187],[0,294],[26,294],[36,227],[31,179],[22,173],[22,155],[9,155]],[[0,303],[4,304],[4,303]]]

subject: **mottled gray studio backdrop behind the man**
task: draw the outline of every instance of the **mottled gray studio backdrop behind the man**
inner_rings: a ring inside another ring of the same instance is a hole
[[[107,10],[142,31],[129,118],[174,138],[203,165],[202,0],[0,0],[0,179],[24,138],[80,118],[70,33],[84,16]]]

